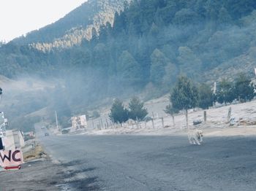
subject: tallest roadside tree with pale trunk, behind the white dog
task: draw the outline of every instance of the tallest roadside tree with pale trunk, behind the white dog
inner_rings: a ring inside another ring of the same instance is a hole
[[[179,77],[170,95],[170,101],[174,108],[185,110],[187,128],[189,127],[187,111],[197,106],[198,97],[197,87],[192,84],[192,81],[187,77]]]

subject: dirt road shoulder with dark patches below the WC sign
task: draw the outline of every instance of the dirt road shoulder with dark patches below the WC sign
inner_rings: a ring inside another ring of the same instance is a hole
[[[73,164],[53,163],[52,160],[29,162],[20,171],[4,171],[0,174],[0,191],[30,190],[98,190],[91,186],[96,180],[84,178],[78,181],[80,171],[70,168]]]

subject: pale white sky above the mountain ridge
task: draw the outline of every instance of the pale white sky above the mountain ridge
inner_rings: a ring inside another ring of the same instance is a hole
[[[0,0],[0,40],[10,41],[64,17],[87,0]]]

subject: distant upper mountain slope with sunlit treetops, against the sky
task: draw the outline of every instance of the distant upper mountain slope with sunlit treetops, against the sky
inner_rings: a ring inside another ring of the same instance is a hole
[[[72,47],[83,39],[90,40],[92,30],[98,32],[99,27],[110,23],[113,25],[114,15],[124,9],[124,3],[131,0],[89,0],[80,7],[69,12],[56,23],[31,31],[26,37],[14,39],[15,44],[31,44],[38,50]]]

